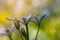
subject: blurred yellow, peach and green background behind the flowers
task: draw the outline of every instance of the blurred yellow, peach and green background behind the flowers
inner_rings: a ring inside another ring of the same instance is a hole
[[[1,34],[14,26],[13,22],[6,18],[20,19],[29,14],[48,16],[41,23],[38,40],[60,40],[60,0],[0,0],[0,40],[9,40]],[[36,31],[36,24],[29,24],[30,40],[34,39]],[[12,34],[13,40],[21,40],[16,34]]]

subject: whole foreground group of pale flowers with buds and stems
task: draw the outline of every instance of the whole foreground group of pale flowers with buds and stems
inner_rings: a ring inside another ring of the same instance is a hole
[[[22,40],[29,40],[29,28],[28,28],[29,22],[36,23],[38,25],[38,30],[37,30],[37,33],[36,33],[35,40],[37,40],[37,37],[38,37],[38,34],[39,34],[40,23],[42,22],[42,20],[46,16],[47,15],[43,15],[43,16],[40,17],[40,15],[38,14],[38,15],[35,15],[33,17],[31,15],[24,16],[20,20],[18,20],[17,18],[14,18],[14,19],[13,18],[6,18],[6,19],[14,22],[15,28],[16,28],[16,30],[18,30],[19,34],[21,35]],[[21,28],[20,23],[24,24],[25,28],[23,28],[23,27]],[[6,30],[6,33],[11,40],[12,40],[11,34],[12,34],[13,30],[9,30],[9,29]]]

